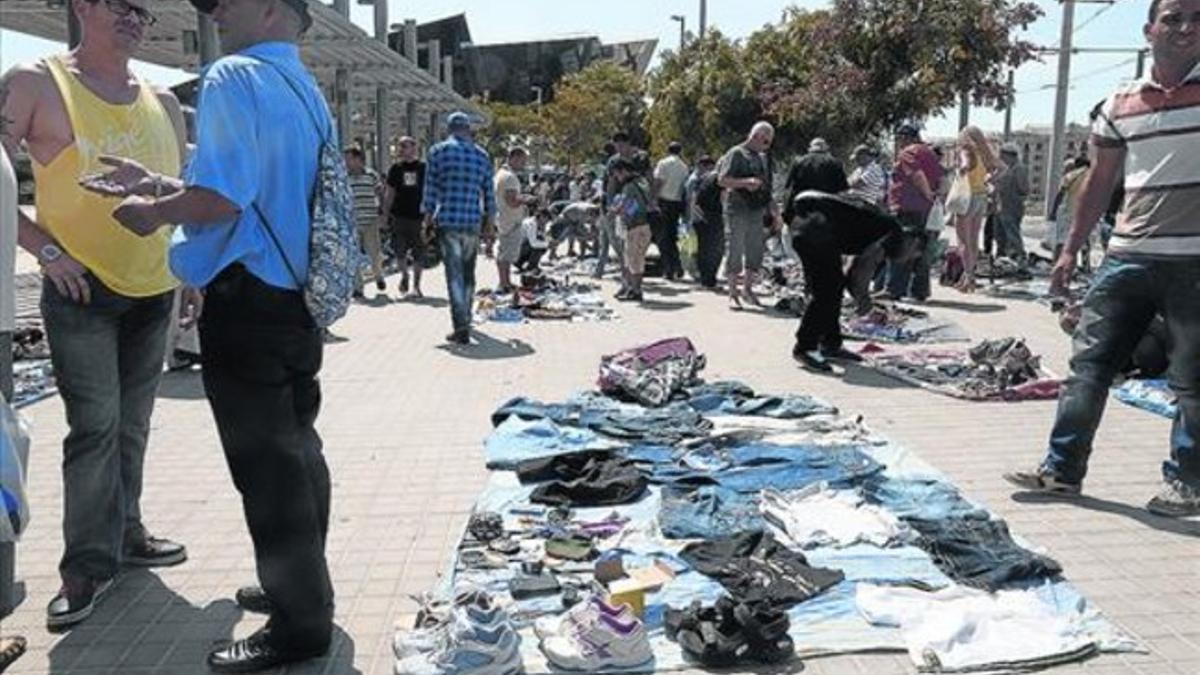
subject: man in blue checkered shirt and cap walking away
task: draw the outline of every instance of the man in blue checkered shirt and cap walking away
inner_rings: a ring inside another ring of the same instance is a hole
[[[425,227],[436,228],[450,293],[454,333],[448,342],[470,342],[470,311],[475,297],[475,255],[482,239],[491,250],[496,233],[496,192],[492,159],[470,137],[467,113],[446,118],[450,137],[430,149],[425,166],[421,211]]]

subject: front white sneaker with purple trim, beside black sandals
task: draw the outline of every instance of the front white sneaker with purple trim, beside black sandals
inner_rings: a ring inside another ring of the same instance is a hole
[[[541,651],[564,670],[599,673],[646,665],[654,661],[646,627],[637,619],[620,620],[601,614],[590,626],[578,626],[569,635],[551,635]]]

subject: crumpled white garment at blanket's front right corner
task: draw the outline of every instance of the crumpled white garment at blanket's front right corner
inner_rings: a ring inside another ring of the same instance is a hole
[[[1056,611],[1031,590],[986,593],[953,586],[928,593],[859,584],[856,602],[872,625],[900,628],[922,671],[1046,668],[1097,651],[1082,616]]]

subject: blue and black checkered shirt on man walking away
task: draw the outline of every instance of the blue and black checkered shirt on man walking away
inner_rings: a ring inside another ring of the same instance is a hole
[[[457,136],[431,148],[421,210],[443,229],[479,232],[484,215],[496,213],[492,159],[469,138]]]

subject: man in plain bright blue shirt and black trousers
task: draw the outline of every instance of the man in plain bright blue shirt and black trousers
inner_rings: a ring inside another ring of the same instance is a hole
[[[191,1],[212,13],[227,56],[204,72],[185,179],[128,165],[109,178],[132,195],[114,213],[125,227],[149,234],[184,223],[172,271],[205,289],[204,390],[262,584],[236,599],[271,616],[208,661],[215,671],[246,673],[323,655],[332,635],[329,468],[313,428],[323,344],[301,288],[319,145],[335,132],[296,47],[312,23],[307,0]],[[154,196],[139,196],[134,186],[148,181]],[[198,304],[192,292],[185,310]]]

